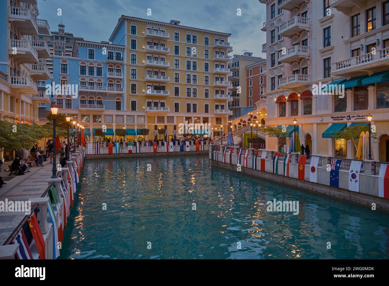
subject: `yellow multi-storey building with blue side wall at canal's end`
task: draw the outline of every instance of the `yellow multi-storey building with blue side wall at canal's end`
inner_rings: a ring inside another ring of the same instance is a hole
[[[179,133],[180,123],[208,123],[213,135],[226,132],[228,116],[228,52],[231,34],[121,16],[110,36],[126,47],[127,92],[131,125]],[[221,128],[223,125],[223,128]]]

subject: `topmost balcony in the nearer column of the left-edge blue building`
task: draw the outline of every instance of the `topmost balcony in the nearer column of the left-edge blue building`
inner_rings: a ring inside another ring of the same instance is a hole
[[[18,32],[22,35],[38,34],[37,18],[30,9],[11,6],[9,6],[8,9],[8,19],[10,22],[14,23]]]

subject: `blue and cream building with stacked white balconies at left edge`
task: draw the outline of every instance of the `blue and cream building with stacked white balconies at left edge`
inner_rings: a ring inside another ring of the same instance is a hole
[[[0,116],[27,124],[38,122],[39,103],[50,102],[37,88],[37,80],[50,77],[41,63],[49,49],[38,39],[39,33],[49,33],[49,25],[38,16],[36,0],[0,4]]]

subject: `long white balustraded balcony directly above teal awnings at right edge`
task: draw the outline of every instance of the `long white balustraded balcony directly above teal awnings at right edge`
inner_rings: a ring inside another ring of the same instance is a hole
[[[368,53],[355,56],[348,60],[333,63],[331,75],[354,75],[370,72],[378,68],[387,68],[389,64],[389,48],[377,50],[375,54]]]

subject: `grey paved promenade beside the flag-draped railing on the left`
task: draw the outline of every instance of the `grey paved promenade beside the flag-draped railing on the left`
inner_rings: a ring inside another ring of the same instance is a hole
[[[9,201],[21,201],[42,196],[48,186],[46,181],[52,175],[53,165],[50,161],[44,162],[44,167],[30,168],[31,172],[25,172],[25,175],[21,176],[14,174],[8,176],[9,171],[5,171],[7,166],[8,164],[4,163],[0,172],[0,176],[4,177],[4,182],[7,183],[0,188],[0,201],[5,202],[6,198]],[[11,235],[25,215],[24,212],[0,212],[0,245]]]

